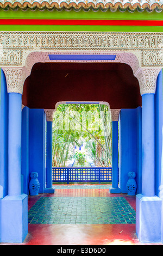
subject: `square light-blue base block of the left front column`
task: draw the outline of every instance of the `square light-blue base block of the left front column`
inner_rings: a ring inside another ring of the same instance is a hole
[[[6,196],[1,200],[1,242],[22,243],[28,234],[28,196]]]

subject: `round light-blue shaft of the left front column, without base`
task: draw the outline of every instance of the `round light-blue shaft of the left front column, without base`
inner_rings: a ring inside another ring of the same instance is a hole
[[[9,93],[9,196],[21,194],[22,95]]]

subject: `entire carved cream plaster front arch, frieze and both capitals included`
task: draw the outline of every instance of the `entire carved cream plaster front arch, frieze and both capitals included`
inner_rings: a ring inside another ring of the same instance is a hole
[[[8,92],[22,93],[22,83],[35,63],[78,61],[51,60],[49,54],[103,55],[108,59],[79,61],[126,63],[139,80],[141,94],[153,93],[156,74],[163,66],[162,46],[163,33],[0,32],[0,65],[7,76]]]

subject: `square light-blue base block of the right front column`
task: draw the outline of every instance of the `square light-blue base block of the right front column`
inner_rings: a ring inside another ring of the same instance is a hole
[[[161,199],[136,195],[136,235],[142,243],[161,242]]]

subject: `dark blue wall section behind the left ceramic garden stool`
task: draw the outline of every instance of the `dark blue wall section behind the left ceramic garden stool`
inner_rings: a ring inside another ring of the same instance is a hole
[[[29,109],[29,173],[39,174],[40,190],[45,188],[45,112]]]

